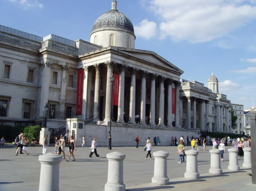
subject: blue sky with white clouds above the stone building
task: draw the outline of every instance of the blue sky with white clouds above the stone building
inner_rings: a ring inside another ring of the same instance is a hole
[[[90,41],[112,0],[2,0],[0,24],[37,36]],[[256,0],[117,0],[135,48],[151,50],[207,87],[213,72],[231,103],[256,105]]]

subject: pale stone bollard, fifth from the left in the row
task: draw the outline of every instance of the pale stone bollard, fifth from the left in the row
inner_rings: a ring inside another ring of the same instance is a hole
[[[211,154],[211,168],[209,173],[211,174],[222,174],[222,169],[220,168],[220,153],[219,149],[212,149],[209,151]]]

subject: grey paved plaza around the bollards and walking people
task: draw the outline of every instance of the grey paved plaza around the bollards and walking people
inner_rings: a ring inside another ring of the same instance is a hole
[[[124,160],[124,184],[128,191],[143,190],[184,190],[190,191],[207,190],[256,190],[256,186],[250,184],[250,169],[242,168],[243,158],[239,158],[240,171],[228,171],[229,154],[224,153],[224,161],[221,162],[223,170],[222,175],[209,174],[211,147],[206,147],[206,151],[200,147],[198,154],[198,172],[200,179],[186,180],[184,173],[186,171],[186,162],[178,163],[176,154],[177,147],[153,147],[152,152],[163,150],[169,152],[167,158],[168,178],[170,185],[157,186],[151,184],[155,160],[145,160],[146,152],[143,151],[143,144],[140,148],[134,147],[113,147],[109,151],[106,147],[98,148],[100,158],[89,158],[89,147],[78,147],[74,152],[76,161],[69,162],[63,160],[60,163],[60,191],[63,190],[104,190],[107,183],[108,160],[106,154],[114,151],[126,154]],[[230,148],[230,147],[228,147]],[[226,150],[228,150],[226,148]],[[186,147],[190,149],[190,147]],[[49,152],[54,152],[54,147],[48,148]],[[28,147],[30,155],[19,154],[15,156],[14,147],[0,148],[0,190],[14,191],[26,190],[36,191],[39,188],[39,177],[41,164],[38,156],[42,152],[42,147]],[[67,150],[66,150],[67,152]],[[67,152],[68,153],[68,152]],[[72,159],[72,157],[71,157]],[[148,158],[149,159],[149,158]],[[185,157],[186,160],[186,157]],[[255,161],[253,161],[255,162]]]

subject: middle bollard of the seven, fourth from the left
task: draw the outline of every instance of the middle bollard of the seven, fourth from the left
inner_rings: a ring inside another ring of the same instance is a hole
[[[187,150],[185,151],[187,155],[187,168],[184,174],[186,179],[198,179],[200,174],[197,172],[197,155],[198,151]]]

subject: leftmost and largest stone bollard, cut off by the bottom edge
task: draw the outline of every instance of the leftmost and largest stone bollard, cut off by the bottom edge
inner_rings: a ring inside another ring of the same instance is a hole
[[[59,191],[61,155],[46,153],[39,156],[41,162],[39,191]]]

